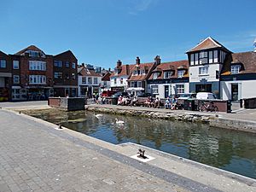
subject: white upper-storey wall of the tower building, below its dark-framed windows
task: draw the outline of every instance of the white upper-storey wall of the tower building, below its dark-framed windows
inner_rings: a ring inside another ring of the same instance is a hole
[[[219,81],[219,79],[216,79],[216,71],[220,72],[222,64],[210,64],[210,65],[204,65],[204,67],[208,68],[208,74],[199,74],[199,67],[203,66],[191,66],[189,67],[189,82],[190,83],[198,83],[201,81],[201,79],[207,79],[207,81]]]

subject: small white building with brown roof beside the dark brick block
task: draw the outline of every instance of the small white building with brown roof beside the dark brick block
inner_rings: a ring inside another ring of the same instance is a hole
[[[82,65],[78,68],[78,81],[79,96],[91,97],[100,93],[100,86],[102,84],[101,73],[96,73],[94,70]]]

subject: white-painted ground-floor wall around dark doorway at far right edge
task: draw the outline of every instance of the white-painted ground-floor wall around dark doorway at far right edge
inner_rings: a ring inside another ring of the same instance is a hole
[[[220,82],[221,99],[231,99],[231,84],[238,84],[238,99],[256,97],[256,80],[222,81]]]

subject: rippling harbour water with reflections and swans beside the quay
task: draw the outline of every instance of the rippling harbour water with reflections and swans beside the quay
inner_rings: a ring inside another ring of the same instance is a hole
[[[96,113],[33,114],[110,143],[139,143],[256,178],[256,135],[208,125]],[[115,118],[125,121],[117,125]]]

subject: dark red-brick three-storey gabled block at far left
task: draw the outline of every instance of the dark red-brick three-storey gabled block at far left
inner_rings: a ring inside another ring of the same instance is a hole
[[[76,96],[77,59],[70,50],[54,56],[31,45],[14,55],[0,52],[0,60],[0,98],[5,101]]]

